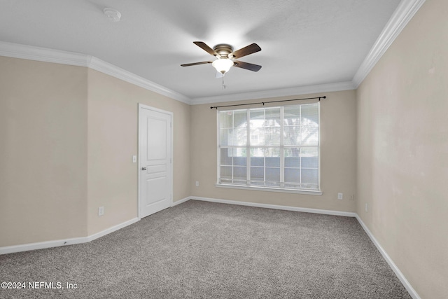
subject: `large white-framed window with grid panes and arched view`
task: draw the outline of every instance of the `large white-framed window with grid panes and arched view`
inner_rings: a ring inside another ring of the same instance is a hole
[[[218,112],[218,186],[320,192],[319,104]]]

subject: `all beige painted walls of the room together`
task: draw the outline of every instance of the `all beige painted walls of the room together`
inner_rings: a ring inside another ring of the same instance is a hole
[[[174,201],[356,211],[421,298],[444,298],[447,15],[448,1],[426,0],[356,92],[318,94],[328,97],[322,196],[216,188],[210,104],[188,106],[83,67],[0,57],[0,246],[85,237],[137,217],[131,157],[142,103],[174,113]]]

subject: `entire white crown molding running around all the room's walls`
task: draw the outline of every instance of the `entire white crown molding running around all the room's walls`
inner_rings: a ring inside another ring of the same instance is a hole
[[[367,74],[377,64],[382,55],[396,39],[398,34],[407,25],[409,20],[415,15],[426,0],[402,0],[395,9],[391,19],[387,22],[383,31],[374,43],[372,49],[365,57],[365,60],[356,71],[351,81],[339,83],[327,83],[321,85],[309,85],[296,88],[283,88],[276,90],[261,90],[256,92],[244,92],[233,95],[219,95],[214,97],[197,97],[190,99],[179,92],[165,88],[162,85],[149,81],[141,76],[132,74],[130,71],[120,69],[109,62],[99,60],[97,57],[80,53],[66,52],[62,50],[52,50],[48,48],[38,48],[34,46],[20,45],[17,43],[6,43],[0,41],[0,56],[21,58],[25,60],[36,60],[41,62],[53,62],[68,64],[78,67],[88,67],[100,71],[109,76],[132,83],[146,90],[157,92],[160,95],[176,99],[190,105],[212,104],[219,102],[243,101],[247,99],[265,99],[269,97],[285,97],[293,95],[306,95],[316,92],[333,92],[341,90],[355,90],[365,79]]]

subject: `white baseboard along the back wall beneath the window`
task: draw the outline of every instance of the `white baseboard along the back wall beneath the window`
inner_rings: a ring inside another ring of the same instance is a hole
[[[259,208],[267,208],[267,209],[281,209],[285,211],[303,211],[305,213],[314,213],[314,214],[325,214],[325,215],[335,215],[335,216],[346,216],[346,217],[356,217],[356,213],[352,213],[349,211],[332,211],[325,209],[309,209],[309,208],[300,208],[300,207],[290,207],[290,206],[281,206],[278,204],[259,204],[255,202],[239,202],[237,200],[219,200],[216,198],[209,197],[190,197],[191,200],[202,200],[204,202],[218,202],[221,204],[238,204],[241,206],[248,207],[259,207]]]

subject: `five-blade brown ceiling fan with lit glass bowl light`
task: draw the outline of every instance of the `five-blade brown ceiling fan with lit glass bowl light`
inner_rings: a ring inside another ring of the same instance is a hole
[[[223,75],[227,73],[231,67],[239,67],[241,69],[248,69],[249,71],[260,71],[261,69],[261,66],[258,64],[251,64],[248,62],[235,60],[237,58],[261,51],[260,46],[258,46],[256,43],[252,43],[251,45],[236,51],[234,51],[233,47],[228,45],[227,43],[220,43],[214,46],[213,49],[207,46],[207,44],[202,41],[193,41],[193,43],[205,50],[207,53],[214,55],[216,57],[216,60],[181,64],[181,67],[191,67],[192,65],[211,63],[216,71]]]

